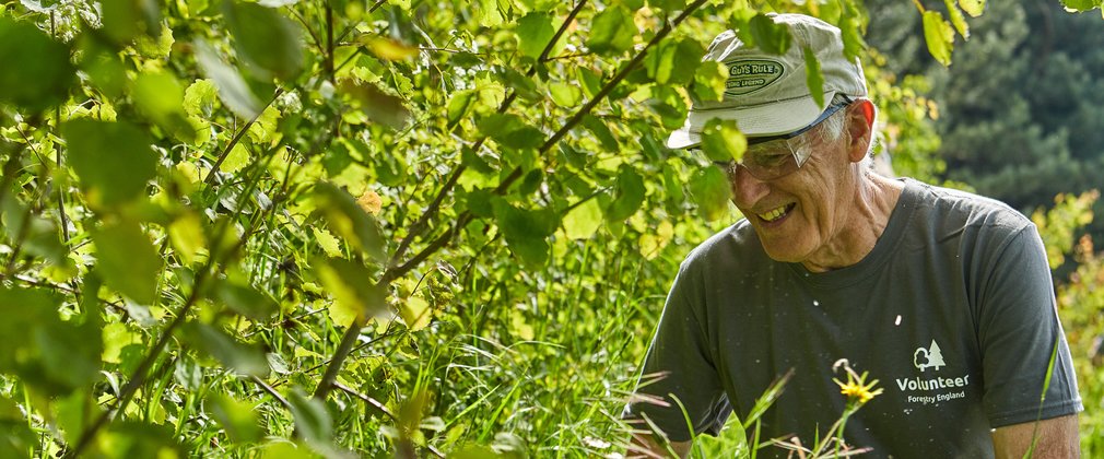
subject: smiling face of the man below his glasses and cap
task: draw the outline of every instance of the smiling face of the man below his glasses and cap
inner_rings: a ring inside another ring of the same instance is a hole
[[[732,201],[747,217],[771,258],[806,263],[846,249],[846,232],[857,188],[850,172],[846,136],[831,139],[822,126],[809,136],[811,154],[797,171],[769,181],[746,169],[730,173]]]

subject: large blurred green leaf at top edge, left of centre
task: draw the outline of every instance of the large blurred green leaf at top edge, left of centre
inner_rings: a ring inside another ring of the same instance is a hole
[[[237,0],[223,2],[223,15],[242,58],[282,81],[299,76],[302,40],[295,22],[272,8]]]

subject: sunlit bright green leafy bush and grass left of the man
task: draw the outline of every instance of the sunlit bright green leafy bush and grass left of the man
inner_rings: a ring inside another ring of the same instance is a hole
[[[877,60],[861,4],[771,4]],[[761,9],[2,3],[0,456],[620,450],[678,263],[735,216],[662,139],[714,34],[786,42]],[[937,170],[922,82],[881,75]]]

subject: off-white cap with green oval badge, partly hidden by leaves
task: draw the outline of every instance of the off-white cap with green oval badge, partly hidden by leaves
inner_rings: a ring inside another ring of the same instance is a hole
[[[668,148],[697,146],[701,129],[713,118],[736,120],[736,127],[749,137],[778,136],[810,125],[837,94],[866,97],[862,66],[857,58],[843,55],[839,29],[805,14],[768,17],[789,29],[789,50],[774,55],[744,45],[731,30],[716,35],[702,61],[721,62],[729,70],[724,97],[720,102],[694,100],[686,124],[667,139]],[[820,63],[824,107],[809,94],[805,49]]]

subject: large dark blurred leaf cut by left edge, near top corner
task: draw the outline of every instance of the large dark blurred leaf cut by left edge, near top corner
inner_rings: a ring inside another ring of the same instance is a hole
[[[68,49],[29,22],[0,18],[0,104],[40,111],[65,102],[76,71]]]

